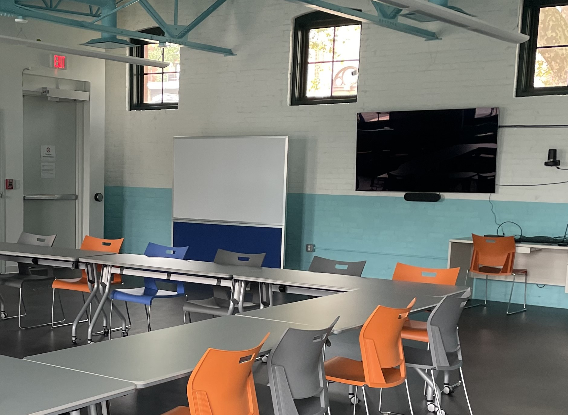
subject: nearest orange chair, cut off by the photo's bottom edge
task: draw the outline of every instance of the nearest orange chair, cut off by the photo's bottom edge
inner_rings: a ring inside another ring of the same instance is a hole
[[[252,365],[270,333],[249,350],[208,348],[187,382],[187,406],[162,415],[259,415]]]

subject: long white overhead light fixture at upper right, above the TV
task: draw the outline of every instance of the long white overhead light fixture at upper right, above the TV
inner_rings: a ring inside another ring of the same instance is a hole
[[[378,2],[377,0],[372,1]],[[483,22],[483,20],[479,20],[473,16],[425,0],[381,0],[381,3],[398,7],[407,12],[427,16],[439,22],[461,27],[490,38],[503,40],[504,42],[524,43],[529,40],[529,36],[522,33],[503,30],[502,28]]]

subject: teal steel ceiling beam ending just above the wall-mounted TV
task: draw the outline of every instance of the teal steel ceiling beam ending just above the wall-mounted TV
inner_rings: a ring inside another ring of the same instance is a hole
[[[382,16],[375,16],[362,11],[353,10],[349,7],[334,5],[323,0],[286,0],[291,3],[299,3],[311,9],[325,11],[337,16],[343,16],[348,19],[359,20],[360,22],[373,23],[377,26],[394,29],[399,32],[406,33],[412,36],[418,36],[426,40],[439,40],[435,32],[424,30],[423,28],[411,26],[410,24],[399,23],[395,19],[385,19]]]

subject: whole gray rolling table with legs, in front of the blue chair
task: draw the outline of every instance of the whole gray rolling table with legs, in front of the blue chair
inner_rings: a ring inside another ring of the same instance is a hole
[[[240,296],[241,283],[239,283],[238,287],[235,287],[232,280],[231,272],[235,267],[229,267],[228,265],[174,258],[155,258],[136,254],[101,255],[100,252],[98,256],[81,258],[80,262],[87,264],[87,277],[89,277],[89,280],[94,281],[98,280],[96,265],[102,265],[100,283],[95,282],[95,284],[99,284],[101,287],[102,299],[93,318],[91,318],[89,330],[87,331],[87,343],[93,342],[93,328],[108,298],[111,288],[111,278],[115,273],[120,275],[152,277],[162,280],[184,281],[187,283],[223,285],[224,287],[231,287],[233,298],[235,298],[235,296],[239,298]],[[95,292],[95,290],[93,290],[93,292]],[[79,319],[82,313],[86,311],[90,301],[92,301],[91,297],[89,297],[89,300],[83,305],[83,309],[81,309],[73,322],[73,343],[77,341],[77,324]],[[236,299],[231,301],[230,312],[232,312],[237,302],[238,300]],[[122,332],[124,335],[126,334],[126,319],[122,313],[118,313],[118,316],[122,322]]]

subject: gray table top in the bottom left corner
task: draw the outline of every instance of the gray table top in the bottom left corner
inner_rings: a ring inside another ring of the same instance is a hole
[[[57,415],[128,395],[134,384],[0,355],[0,413]]]

